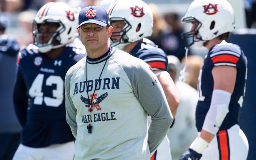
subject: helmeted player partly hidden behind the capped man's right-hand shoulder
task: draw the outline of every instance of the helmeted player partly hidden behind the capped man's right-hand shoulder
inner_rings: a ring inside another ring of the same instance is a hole
[[[167,72],[167,55],[146,38],[152,34],[153,27],[153,15],[149,6],[142,0],[118,0],[110,5],[108,14],[111,26],[114,27],[111,45],[150,65],[164,89],[171,113],[175,117],[180,97],[175,83]],[[148,118],[150,123],[150,117]],[[169,144],[166,136],[151,159],[171,160]]]

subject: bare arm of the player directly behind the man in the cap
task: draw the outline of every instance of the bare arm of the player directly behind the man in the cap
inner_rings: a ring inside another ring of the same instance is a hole
[[[173,117],[175,117],[178,105],[180,103],[180,96],[178,94],[175,83],[173,82],[173,79],[171,79],[171,76],[168,72],[161,70],[153,72],[156,74],[159,82],[161,83],[161,86],[163,87],[171,113]]]

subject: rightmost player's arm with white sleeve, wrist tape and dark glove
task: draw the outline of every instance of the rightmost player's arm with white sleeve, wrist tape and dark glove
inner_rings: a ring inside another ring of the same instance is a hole
[[[235,88],[237,69],[227,65],[215,66],[212,75],[214,80],[213,95],[201,134],[190,145],[189,150],[182,155],[180,160],[187,160],[190,156],[199,160],[229,112],[228,106]]]

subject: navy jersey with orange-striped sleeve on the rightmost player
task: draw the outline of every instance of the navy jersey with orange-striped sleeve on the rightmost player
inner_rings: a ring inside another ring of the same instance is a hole
[[[245,94],[246,75],[247,75],[247,58],[238,45],[222,43],[213,46],[206,57],[199,74],[197,89],[199,91],[199,101],[196,108],[196,127],[201,131],[204,118],[211,104],[211,96],[213,93],[213,76],[211,71],[214,66],[229,65],[237,68],[237,77],[235,88],[231,95],[229,104],[229,112],[226,115],[220,130],[229,129],[239,122],[240,107],[242,107],[243,97]]]

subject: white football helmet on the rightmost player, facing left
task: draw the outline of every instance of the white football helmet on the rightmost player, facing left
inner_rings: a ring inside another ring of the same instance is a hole
[[[234,10],[227,0],[194,0],[181,21],[198,22],[196,28],[181,34],[187,47],[212,40],[235,28]]]

